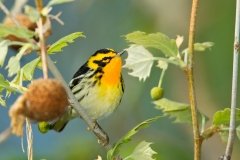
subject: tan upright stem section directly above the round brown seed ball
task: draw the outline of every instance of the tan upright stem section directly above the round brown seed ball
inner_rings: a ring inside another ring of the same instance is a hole
[[[40,42],[41,57],[42,57],[43,77],[47,79],[48,68],[47,68],[47,59],[46,59],[46,43],[43,35],[43,23],[42,23],[41,17],[39,18],[37,25],[38,25],[38,34],[39,34],[39,42]]]

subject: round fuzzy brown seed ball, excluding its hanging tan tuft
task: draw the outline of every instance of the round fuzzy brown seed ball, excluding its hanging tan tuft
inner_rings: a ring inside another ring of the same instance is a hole
[[[23,114],[36,121],[52,121],[61,116],[68,105],[64,87],[54,79],[34,81],[24,96],[26,112]]]

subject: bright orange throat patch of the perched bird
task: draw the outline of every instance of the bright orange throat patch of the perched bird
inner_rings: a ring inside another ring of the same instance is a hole
[[[104,68],[101,82],[107,85],[118,85],[121,81],[122,59],[121,57],[113,58]]]

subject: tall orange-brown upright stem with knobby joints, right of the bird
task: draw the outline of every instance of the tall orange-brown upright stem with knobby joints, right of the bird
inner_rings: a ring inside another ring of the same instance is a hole
[[[193,55],[194,55],[194,37],[195,37],[197,6],[198,6],[198,0],[193,0],[191,18],[190,18],[190,28],[189,28],[188,63],[187,63],[187,66],[185,67],[185,73],[188,81],[191,114],[192,114],[193,136],[194,136],[194,160],[201,159],[201,145],[202,145],[202,137],[199,134],[199,126],[198,126],[198,118],[197,118],[197,102],[196,102],[196,93],[195,93],[194,79],[193,79]]]

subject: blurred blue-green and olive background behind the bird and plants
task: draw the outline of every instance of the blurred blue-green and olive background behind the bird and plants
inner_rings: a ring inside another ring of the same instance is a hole
[[[48,1],[43,2],[46,4]],[[10,8],[13,0],[5,1],[4,4]],[[35,6],[34,1],[28,4]],[[129,44],[122,35],[133,31],[162,32],[172,39],[175,39],[176,35],[181,35],[185,38],[181,49],[187,47],[190,0],[76,0],[54,6],[51,14],[57,14],[59,11],[63,12],[60,18],[65,25],[61,26],[52,21],[53,33],[47,44],[77,31],[83,32],[87,37],[77,39],[69,47],[64,48],[62,53],[51,56],[67,82],[96,50],[110,47],[121,51],[127,48]],[[4,16],[0,11],[0,18],[3,19]],[[200,110],[210,117],[207,126],[211,125],[212,116],[216,111],[230,107],[234,19],[234,1],[199,1],[195,40],[215,43],[211,51],[196,53],[194,57],[197,102]],[[11,51],[8,59],[14,54]],[[159,52],[154,52],[154,55],[163,56]],[[35,57],[35,53],[25,56],[21,64],[24,65]],[[127,54],[123,59],[126,57]],[[4,67],[0,71],[7,77]],[[140,122],[162,115],[161,111],[154,108],[149,94],[151,88],[158,84],[160,70],[153,67],[150,78],[145,82],[139,82],[138,78],[129,76],[128,72],[130,71],[123,69],[125,94],[121,105],[110,117],[100,121],[100,125],[110,137],[110,143],[120,139]],[[40,70],[36,72],[36,77],[41,77]],[[163,88],[164,97],[189,102],[186,77],[178,67],[170,65],[163,81]],[[7,99],[7,108],[0,107],[0,132],[10,124],[8,110],[17,96],[13,95]],[[158,153],[154,156],[158,160],[193,159],[191,126],[175,124],[173,121],[174,119],[165,117],[154,122],[149,128],[141,130],[129,144],[125,145],[121,155],[126,157],[139,142],[145,140],[154,142],[151,147]],[[97,138],[92,132],[87,131],[87,125],[81,119],[69,123],[61,133],[50,131],[41,134],[36,124],[32,127],[34,159],[93,160],[97,155],[106,158],[105,148],[97,144]],[[26,137],[23,141],[27,150]],[[225,146],[219,135],[214,135],[204,141],[202,159],[218,159],[224,154]],[[236,138],[233,160],[239,159],[239,149],[239,140]],[[21,139],[11,136],[0,144],[0,159],[27,159],[27,154],[22,152]]]

